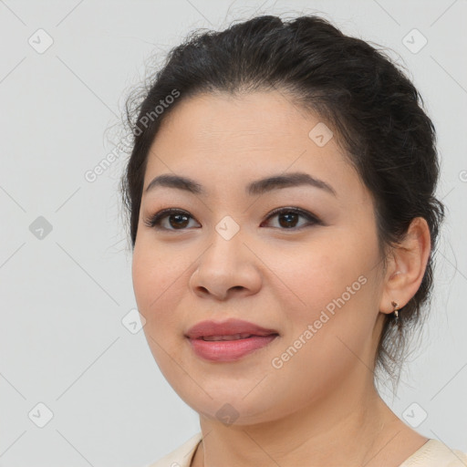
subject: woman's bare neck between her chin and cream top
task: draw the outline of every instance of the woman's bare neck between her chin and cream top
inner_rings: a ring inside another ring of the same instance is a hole
[[[279,420],[254,425],[226,426],[201,416],[203,441],[192,466],[247,467],[269,462],[281,467],[381,467],[400,441],[398,433],[405,425],[381,400],[372,379],[366,384],[365,389],[353,391],[342,385],[333,394]]]

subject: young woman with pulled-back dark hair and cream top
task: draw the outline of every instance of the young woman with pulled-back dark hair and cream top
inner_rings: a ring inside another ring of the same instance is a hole
[[[259,16],[193,34],[140,97],[133,286],[201,424],[152,467],[467,465],[375,385],[399,380],[444,214],[410,80],[323,18]]]

